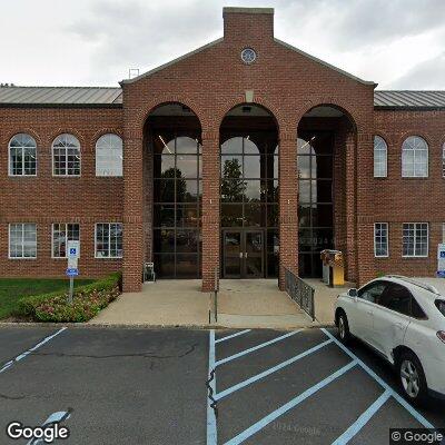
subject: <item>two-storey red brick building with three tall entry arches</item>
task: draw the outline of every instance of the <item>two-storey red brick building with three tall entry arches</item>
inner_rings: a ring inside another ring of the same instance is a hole
[[[121,88],[0,88],[1,276],[433,275],[445,92],[378,91],[225,8],[224,37]],[[123,160],[122,160],[123,159]]]

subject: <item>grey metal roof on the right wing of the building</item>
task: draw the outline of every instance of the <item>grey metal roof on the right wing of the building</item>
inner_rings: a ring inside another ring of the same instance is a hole
[[[374,91],[377,109],[445,109],[445,91]]]

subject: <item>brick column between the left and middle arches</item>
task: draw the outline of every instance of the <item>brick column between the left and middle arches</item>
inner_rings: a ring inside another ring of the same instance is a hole
[[[202,131],[202,291],[219,279],[219,131]]]

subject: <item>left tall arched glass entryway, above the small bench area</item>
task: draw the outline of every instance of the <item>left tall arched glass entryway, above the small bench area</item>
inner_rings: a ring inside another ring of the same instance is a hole
[[[159,278],[201,275],[201,127],[182,103],[164,103],[145,126],[146,258]],[[152,224],[149,224],[149,220]]]

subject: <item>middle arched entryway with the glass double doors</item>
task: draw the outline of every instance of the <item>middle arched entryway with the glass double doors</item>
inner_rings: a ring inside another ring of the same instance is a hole
[[[278,128],[257,105],[233,108],[220,126],[220,276],[278,276]]]

